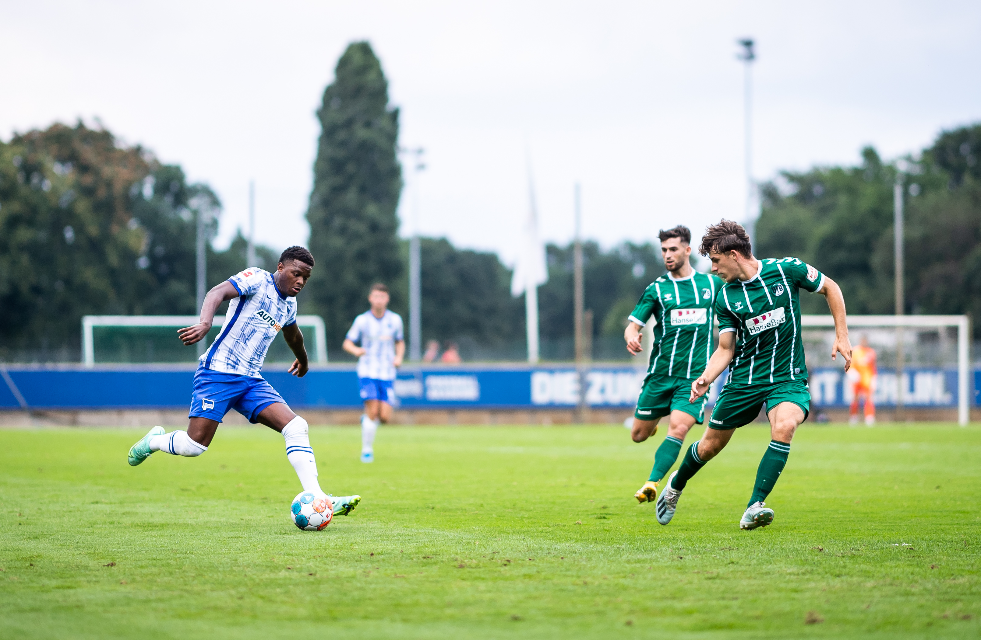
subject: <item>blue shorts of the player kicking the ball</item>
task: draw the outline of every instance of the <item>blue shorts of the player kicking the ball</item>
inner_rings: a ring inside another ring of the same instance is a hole
[[[230,409],[258,422],[259,413],[274,402],[286,404],[276,389],[261,377],[222,373],[199,366],[194,371],[187,418],[208,418],[218,422]]]

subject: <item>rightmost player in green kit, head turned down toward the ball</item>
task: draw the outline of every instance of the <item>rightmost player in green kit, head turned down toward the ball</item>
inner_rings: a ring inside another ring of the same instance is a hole
[[[655,511],[658,522],[670,522],[678,498],[692,476],[765,405],[771,440],[756,470],[749,505],[739,523],[741,529],[754,529],[773,521],[773,510],[763,501],[787,464],[794,432],[810,409],[800,339],[799,289],[820,293],[827,299],[835,319],[831,359],[842,354],[848,370],[852,366],[852,344],[845,320],[845,298],[834,280],[797,258],[753,258],[746,229],[736,222],[724,220],[709,226],[699,252],[709,257],[712,271],[725,284],[715,299],[719,346],[692,383],[690,399],[694,402],[703,396],[708,385],[727,367],[729,377],[712,410],[708,428],[685,453],[681,467],[668,478]]]

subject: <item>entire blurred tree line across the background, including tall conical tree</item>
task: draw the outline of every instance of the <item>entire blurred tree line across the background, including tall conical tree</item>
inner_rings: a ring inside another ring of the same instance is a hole
[[[366,42],[336,67],[318,112],[323,126],[307,220],[317,260],[299,300],[325,317],[332,360],[368,288],[385,281],[393,311],[407,318],[407,241],[396,208],[402,189],[398,111]],[[852,314],[893,313],[893,185],[906,203],[906,313],[981,317],[981,124],[942,132],[920,153],[884,162],[869,147],[847,167],[782,172],[761,185],[755,224],[759,257],[797,256],[841,283]],[[85,314],[193,315],[198,216],[209,238],[221,214],[206,184],[160,163],[140,145],[101,127],[55,123],[0,141],[0,360],[79,358]],[[466,215],[466,212],[461,212]],[[677,221],[684,223],[684,217]],[[701,229],[693,228],[698,237]],[[646,229],[651,237],[657,229]],[[261,238],[260,238],[261,240]],[[256,248],[274,270],[279,248]],[[246,240],[208,245],[207,283],[245,268]],[[571,245],[546,247],[548,282],[539,294],[542,356],[572,358]],[[584,243],[586,308],[594,358],[626,359],[626,317],[663,273],[656,243],[603,249]],[[695,259],[697,269],[707,261]],[[423,339],[459,344],[467,360],[523,360],[524,301],[492,253],[422,239]],[[826,313],[805,296],[804,311]],[[981,335],[979,322],[975,335]]]

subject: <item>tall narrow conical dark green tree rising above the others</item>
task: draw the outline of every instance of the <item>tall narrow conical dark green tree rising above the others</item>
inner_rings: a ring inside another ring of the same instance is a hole
[[[367,42],[352,43],[337,61],[317,116],[323,132],[307,211],[317,268],[309,289],[336,349],[367,309],[371,284],[390,285],[403,270],[395,217],[398,109],[388,108],[388,82]],[[392,297],[397,304],[401,296]]]

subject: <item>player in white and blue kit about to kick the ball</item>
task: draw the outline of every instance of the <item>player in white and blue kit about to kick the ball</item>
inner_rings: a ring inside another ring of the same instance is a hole
[[[222,330],[201,356],[191,391],[190,423],[186,431],[165,433],[155,426],[129,449],[135,467],[155,451],[196,457],[208,450],[222,418],[234,409],[252,423],[283,434],[286,459],[304,491],[323,493],[317,481],[317,461],[310,447],[307,421],[294,414],[262,377],[269,345],[281,330],[296,360],[288,371],[297,377],[307,372],[303,334],[296,326],[296,294],[313,271],[313,256],[303,247],[289,247],[280,256],[276,272],[250,267],[211,289],[201,305],[197,324],[178,331],[181,342],[192,345],[208,335],[215,311],[231,300]],[[346,516],[361,496],[331,496],[334,514]]]

